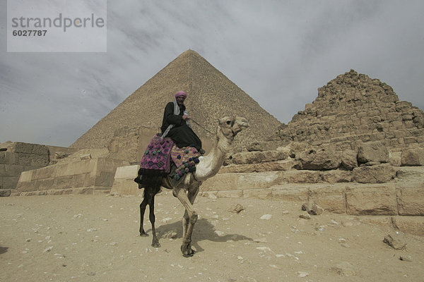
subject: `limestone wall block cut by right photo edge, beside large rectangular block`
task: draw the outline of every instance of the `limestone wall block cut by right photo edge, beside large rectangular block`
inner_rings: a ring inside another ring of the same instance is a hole
[[[396,183],[396,197],[401,216],[424,216],[424,182]]]

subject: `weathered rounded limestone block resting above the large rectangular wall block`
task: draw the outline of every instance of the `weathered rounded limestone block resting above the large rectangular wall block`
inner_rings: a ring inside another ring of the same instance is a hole
[[[358,183],[387,183],[396,177],[393,166],[361,166],[352,171],[352,181]]]

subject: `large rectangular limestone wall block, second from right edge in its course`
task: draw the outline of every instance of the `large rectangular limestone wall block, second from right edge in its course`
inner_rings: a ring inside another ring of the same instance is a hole
[[[347,187],[346,212],[355,215],[398,214],[394,185]]]

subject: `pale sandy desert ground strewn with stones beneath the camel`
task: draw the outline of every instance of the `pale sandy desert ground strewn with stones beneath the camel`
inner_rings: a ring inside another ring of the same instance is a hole
[[[0,198],[0,281],[424,281],[424,238],[406,234],[406,250],[394,250],[383,243],[393,230],[375,223],[386,216],[302,219],[300,202],[198,197],[186,258],[182,205],[156,196],[156,248],[139,236],[141,200]]]

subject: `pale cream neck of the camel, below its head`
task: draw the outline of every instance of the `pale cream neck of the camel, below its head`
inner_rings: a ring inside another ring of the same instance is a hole
[[[196,165],[194,177],[196,180],[204,181],[218,173],[223,165],[225,154],[230,150],[232,140],[228,140],[223,135],[217,134],[211,152],[201,158],[199,164]]]

